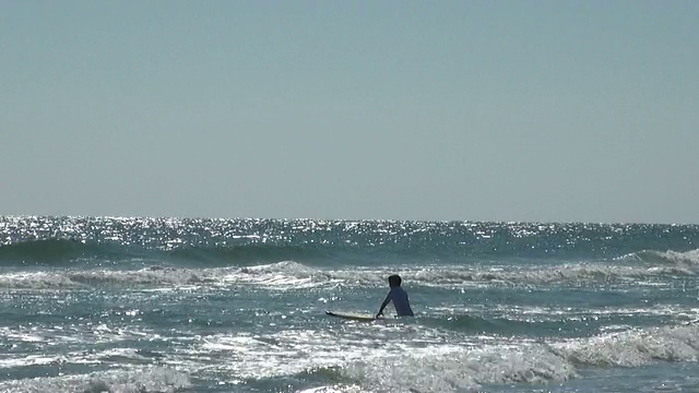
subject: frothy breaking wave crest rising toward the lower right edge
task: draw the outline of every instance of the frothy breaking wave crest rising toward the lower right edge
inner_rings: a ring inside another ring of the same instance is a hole
[[[374,392],[476,391],[484,385],[547,383],[580,377],[588,367],[641,367],[697,361],[699,326],[626,331],[558,343],[500,342],[431,347],[360,361],[342,369]]]

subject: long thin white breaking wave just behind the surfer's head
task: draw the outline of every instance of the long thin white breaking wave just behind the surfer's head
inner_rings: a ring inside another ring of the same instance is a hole
[[[82,286],[181,286],[263,285],[308,288],[323,285],[380,286],[386,277],[399,273],[408,286],[454,287],[474,284],[512,285],[607,283],[650,279],[662,275],[695,275],[699,266],[628,266],[605,263],[573,263],[556,266],[509,269],[467,266],[410,266],[402,270],[325,269],[295,261],[271,264],[187,267],[152,265],[140,270],[67,270],[15,272],[0,275],[0,288],[50,289]]]

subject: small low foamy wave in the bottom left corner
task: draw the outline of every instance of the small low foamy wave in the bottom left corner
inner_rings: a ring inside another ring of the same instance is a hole
[[[189,377],[165,368],[144,368],[128,371],[103,371],[90,374],[42,377],[0,382],[7,393],[170,393],[190,388]]]

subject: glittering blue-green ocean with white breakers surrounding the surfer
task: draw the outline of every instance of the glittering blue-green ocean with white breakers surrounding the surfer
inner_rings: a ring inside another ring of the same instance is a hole
[[[699,226],[0,217],[0,392],[698,392]],[[399,274],[415,318],[354,322]]]

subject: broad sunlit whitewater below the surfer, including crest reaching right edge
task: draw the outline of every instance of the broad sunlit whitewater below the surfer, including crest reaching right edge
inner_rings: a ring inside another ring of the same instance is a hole
[[[229,373],[247,383],[292,376],[304,383],[330,381],[340,384],[341,391],[369,392],[477,391],[486,385],[566,381],[579,378],[581,370],[591,367],[642,367],[699,359],[697,324],[566,340],[496,334],[460,344],[448,340],[451,335],[414,324],[386,329],[341,335],[316,330],[271,335],[221,333],[206,336],[190,355],[233,359],[226,366]]]

